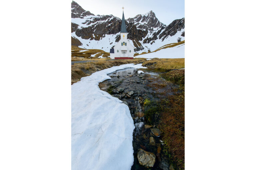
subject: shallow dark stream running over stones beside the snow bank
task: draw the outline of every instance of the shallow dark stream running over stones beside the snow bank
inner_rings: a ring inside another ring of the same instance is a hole
[[[134,121],[133,132],[133,150],[134,150],[134,163],[131,167],[132,170],[169,170],[168,158],[164,154],[161,136],[157,137],[152,133],[152,128],[157,128],[155,124],[150,125],[145,120],[144,101],[158,101],[156,91],[150,86],[152,83],[166,83],[160,76],[160,73],[145,72],[138,74],[138,70],[134,68],[126,68],[117,70],[108,74],[110,80],[105,80],[99,83],[101,90],[107,91],[112,96],[119,98],[129,107],[131,116]],[[168,92],[165,95],[172,95],[170,92],[172,88],[177,88],[177,85],[168,83],[166,89]],[[164,95],[163,95],[164,96]],[[139,163],[137,158],[138,150],[143,149],[155,155],[155,163],[153,167],[146,167]]]

